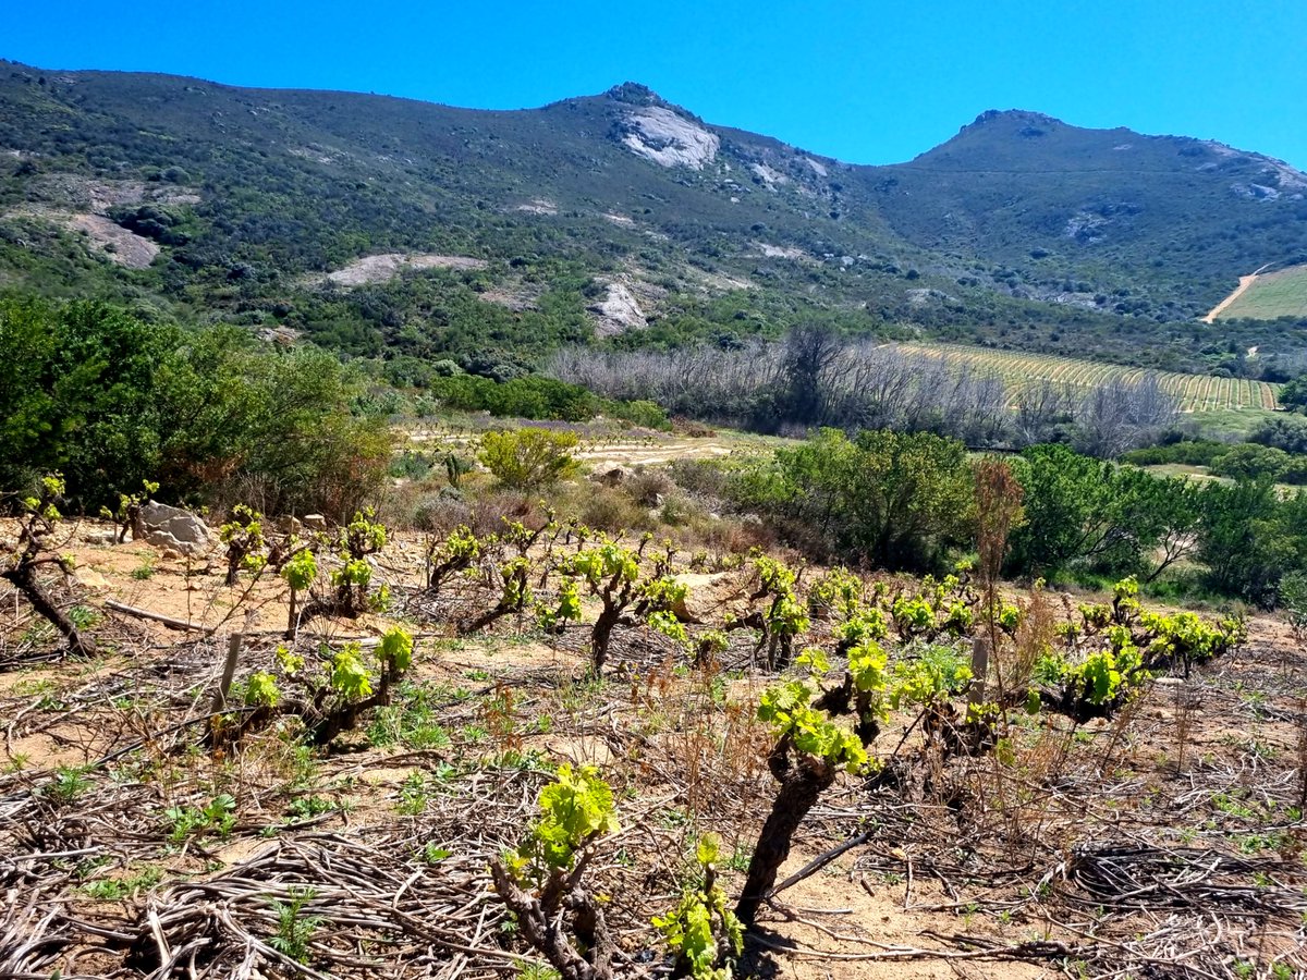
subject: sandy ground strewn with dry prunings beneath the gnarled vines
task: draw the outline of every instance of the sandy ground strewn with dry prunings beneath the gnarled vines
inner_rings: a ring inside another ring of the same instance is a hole
[[[652,463],[680,447],[729,451],[667,439],[592,459]],[[618,975],[665,975],[648,923],[686,881],[698,834],[721,834],[721,881],[738,891],[774,792],[753,717],[771,678],[748,644],[732,642],[710,676],[630,630],[608,679],[587,681],[583,629],[546,636],[508,619],[456,635],[421,598],[422,540],[399,534],[374,563],[391,612],[315,619],[294,644],[312,656],[403,623],[417,653],[395,707],[331,750],[307,753],[276,728],[207,746],[229,634],[246,634],[238,686],[271,669],[286,589],[248,575],[226,587],[218,557],[88,542],[103,531],[77,528],[76,579],[51,583],[93,623],[98,659],[59,657],[48,627],[0,595],[0,972],[519,975],[523,950],[485,868],[520,839],[562,760],[599,766],[618,796],[622,828],[592,868],[626,958]],[[740,606],[738,575],[708,583],[719,609]],[[765,908],[744,971],[1303,976],[1304,689],[1302,645],[1253,617],[1240,651],[1163,678],[1117,719],[1021,723],[1001,762],[966,760],[933,785],[840,777],[780,879],[855,845]],[[882,741],[911,743],[910,721],[891,717]],[[205,823],[222,794],[231,823]],[[183,832],[187,821],[200,830]],[[312,892],[310,962],[324,973],[259,945],[295,889]]]

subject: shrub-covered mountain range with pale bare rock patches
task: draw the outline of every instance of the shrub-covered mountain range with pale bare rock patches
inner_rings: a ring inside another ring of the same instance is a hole
[[[1304,193],[1266,157],[1021,111],[859,166],[635,84],[481,111],[0,61],[0,287],[473,370],[812,320],[1248,370],[1193,321],[1307,255]],[[1252,344],[1274,365],[1307,324]]]

